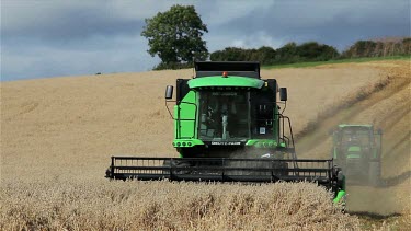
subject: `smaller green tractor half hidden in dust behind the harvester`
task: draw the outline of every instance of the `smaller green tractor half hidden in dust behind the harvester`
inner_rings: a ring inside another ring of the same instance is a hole
[[[378,186],[381,176],[381,130],[375,131],[373,125],[339,125],[332,136],[332,158],[343,170],[347,184]]]

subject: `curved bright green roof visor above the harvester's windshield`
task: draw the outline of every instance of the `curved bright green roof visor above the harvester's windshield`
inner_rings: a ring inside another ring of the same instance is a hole
[[[261,89],[264,81],[260,79],[253,79],[248,77],[203,77],[196,78],[189,81],[191,89],[204,88],[204,86],[238,86],[238,88],[254,88]]]

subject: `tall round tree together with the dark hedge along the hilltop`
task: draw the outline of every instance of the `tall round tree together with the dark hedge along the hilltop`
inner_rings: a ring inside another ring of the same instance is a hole
[[[335,47],[307,42],[285,44],[274,49],[226,47],[208,53],[203,35],[207,25],[193,5],[173,5],[169,11],[159,12],[146,19],[141,36],[148,39],[151,56],[161,62],[155,70],[191,68],[194,60],[212,61],[260,61],[262,65],[284,65],[305,61],[328,61],[334,59],[388,57],[411,55],[411,37],[383,41],[358,41],[339,53]]]

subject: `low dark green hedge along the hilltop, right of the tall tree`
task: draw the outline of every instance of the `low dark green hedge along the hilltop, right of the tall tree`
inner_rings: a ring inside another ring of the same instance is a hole
[[[227,47],[210,54],[212,61],[260,61],[262,65],[284,65],[305,61],[389,57],[411,55],[411,38],[396,42],[358,41],[341,54],[332,46],[308,42],[288,43],[278,49],[262,46],[258,49]]]

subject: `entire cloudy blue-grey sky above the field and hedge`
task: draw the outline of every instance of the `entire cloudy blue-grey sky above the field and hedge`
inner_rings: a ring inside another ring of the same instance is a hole
[[[176,3],[195,5],[210,53],[410,36],[410,0],[1,0],[1,80],[150,70],[144,20]]]

